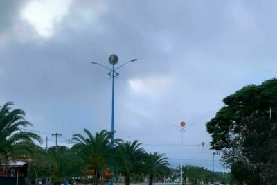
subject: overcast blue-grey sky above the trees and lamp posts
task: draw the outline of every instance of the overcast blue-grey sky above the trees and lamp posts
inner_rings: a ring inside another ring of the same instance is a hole
[[[172,167],[213,168],[206,122],[222,98],[276,77],[277,1],[0,1],[0,105],[55,145],[72,134],[111,130],[111,67],[116,137],[161,152]],[[200,143],[206,146],[201,148]],[[45,146],[45,142],[42,144]],[[220,170],[215,155],[215,170]]]

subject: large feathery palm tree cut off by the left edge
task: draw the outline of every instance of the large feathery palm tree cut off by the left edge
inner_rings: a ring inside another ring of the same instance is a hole
[[[24,128],[32,124],[24,119],[25,112],[12,109],[12,102],[0,107],[0,166],[8,159],[24,159],[33,150],[34,141],[42,142],[39,135],[26,132]]]

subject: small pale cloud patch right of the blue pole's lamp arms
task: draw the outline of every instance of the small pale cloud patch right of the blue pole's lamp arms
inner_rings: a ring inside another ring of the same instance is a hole
[[[170,87],[171,81],[168,76],[132,78],[129,80],[129,88],[139,94],[159,96]]]

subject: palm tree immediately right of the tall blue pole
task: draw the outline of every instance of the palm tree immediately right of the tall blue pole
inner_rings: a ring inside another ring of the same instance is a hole
[[[116,166],[125,175],[125,185],[129,185],[133,173],[143,173],[145,151],[137,140],[118,143],[115,150]]]

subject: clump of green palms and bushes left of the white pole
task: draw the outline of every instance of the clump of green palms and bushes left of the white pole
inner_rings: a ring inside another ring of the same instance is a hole
[[[152,184],[170,172],[167,158],[157,152],[145,152],[139,141],[115,139],[111,148],[114,133],[107,130],[93,135],[84,129],[84,134],[73,134],[75,145],[71,148],[45,150],[37,146],[42,143],[41,137],[26,131],[32,124],[24,119],[24,111],[12,109],[12,105],[8,102],[0,107],[0,168],[6,168],[10,160],[26,161],[29,182],[37,184],[38,179],[44,178],[48,184],[60,185],[64,179],[73,178],[98,184],[111,177],[124,177],[129,185],[132,178],[149,176]]]

